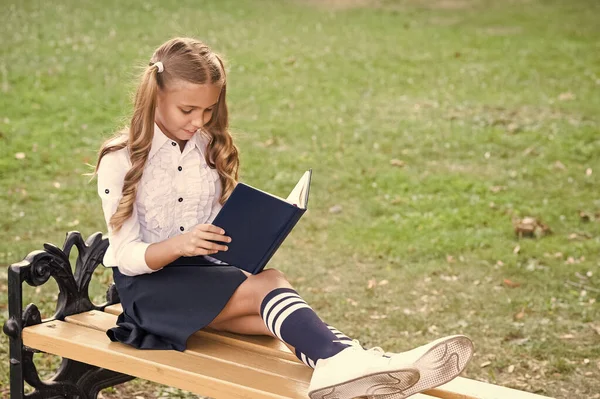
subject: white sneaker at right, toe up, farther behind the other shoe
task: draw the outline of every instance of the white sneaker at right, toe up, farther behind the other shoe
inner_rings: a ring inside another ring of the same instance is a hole
[[[391,356],[392,364],[408,364],[418,369],[419,381],[403,392],[371,395],[370,399],[404,399],[458,377],[473,356],[473,342],[464,335],[451,335],[407,352],[385,356]]]

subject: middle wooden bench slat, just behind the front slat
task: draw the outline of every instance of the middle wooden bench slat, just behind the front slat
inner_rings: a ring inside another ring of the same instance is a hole
[[[115,326],[117,316],[106,312],[91,311],[68,316],[65,321],[106,332],[106,330]],[[307,384],[312,375],[312,370],[299,361],[292,362],[287,359],[224,345],[222,342],[211,339],[210,335],[190,337],[185,352],[195,356],[243,365],[244,367],[284,376]]]

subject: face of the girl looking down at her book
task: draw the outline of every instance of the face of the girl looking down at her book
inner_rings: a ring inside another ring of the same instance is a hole
[[[162,132],[183,148],[187,140],[212,117],[221,86],[173,82],[158,91],[155,121]]]

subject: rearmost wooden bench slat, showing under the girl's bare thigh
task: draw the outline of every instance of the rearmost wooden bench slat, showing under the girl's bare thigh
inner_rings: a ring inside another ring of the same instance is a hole
[[[123,308],[121,307],[120,303],[117,303],[115,305],[107,306],[104,311],[118,316],[123,312]],[[257,353],[264,353],[266,355],[277,356],[279,358],[299,362],[298,358],[292,352],[290,352],[287,346],[273,337],[231,334],[211,330],[208,328],[197,331],[194,335],[198,337],[211,338],[224,344],[252,350]]]

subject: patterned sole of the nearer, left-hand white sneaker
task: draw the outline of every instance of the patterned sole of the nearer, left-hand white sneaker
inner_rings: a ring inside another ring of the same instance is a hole
[[[310,399],[350,399],[372,395],[380,398],[383,395],[402,393],[415,385],[417,381],[419,381],[419,371],[416,368],[402,368],[365,375],[341,384],[321,388],[309,392],[308,396]]]

